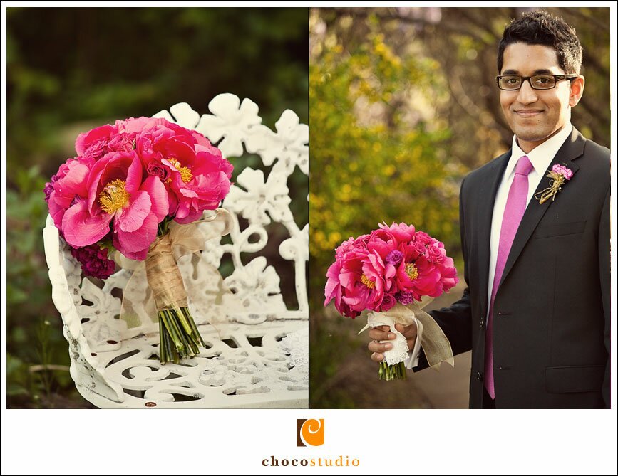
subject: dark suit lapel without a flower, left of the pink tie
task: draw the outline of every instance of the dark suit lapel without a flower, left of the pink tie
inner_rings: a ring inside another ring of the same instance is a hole
[[[501,155],[488,166],[487,176],[484,181],[488,185],[490,196],[487,199],[482,200],[478,206],[478,243],[480,247],[479,256],[479,287],[480,290],[480,302],[481,302],[481,314],[483,319],[488,312],[488,281],[489,281],[489,255],[490,255],[490,243],[491,243],[491,220],[493,217],[493,203],[495,201],[495,194],[498,193],[498,186],[502,181],[504,170],[510,159],[511,151]]]

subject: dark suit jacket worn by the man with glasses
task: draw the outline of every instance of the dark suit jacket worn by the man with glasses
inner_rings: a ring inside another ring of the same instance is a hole
[[[472,350],[482,408],[493,203],[511,152],[465,177],[463,297],[434,311],[454,354]],[[496,408],[609,408],[609,149],[574,128],[553,164],[574,172],[555,201],[528,204],[495,296]],[[551,166],[550,165],[550,168]],[[543,178],[537,191],[545,189]],[[427,366],[421,355],[418,369]]]

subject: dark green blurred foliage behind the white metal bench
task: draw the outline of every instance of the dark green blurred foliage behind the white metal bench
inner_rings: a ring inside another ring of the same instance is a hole
[[[307,9],[7,9],[9,408],[88,406],[68,375],[41,233],[43,186],[74,156],[77,134],[177,102],[206,113],[221,92],[254,100],[272,129],[285,109],[307,124],[307,18]],[[306,197],[307,178],[292,179]],[[293,212],[307,223],[304,200]]]

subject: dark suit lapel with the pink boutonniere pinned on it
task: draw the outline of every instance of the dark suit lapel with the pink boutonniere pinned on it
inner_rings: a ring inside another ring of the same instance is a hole
[[[575,127],[573,127],[570,137],[568,137],[565,143],[562,144],[562,147],[558,149],[558,152],[552,160],[549,169],[551,170],[552,166],[554,166],[555,164],[565,164],[569,169],[572,170],[573,174],[575,174],[575,172],[580,167],[572,161],[577,159],[578,157],[581,157],[584,153],[584,142],[585,139],[582,134],[580,134],[580,132],[578,132]],[[543,189],[546,189],[547,186],[549,186],[549,179],[545,178],[544,175],[539,183],[539,186],[537,186],[537,189],[535,190],[535,194],[542,191]],[[556,199],[560,200],[560,192],[558,192],[558,194],[559,195],[556,196]],[[541,220],[541,218],[543,218],[545,212],[547,212],[547,209],[552,206],[552,203],[552,200],[547,200],[541,205],[534,196],[532,196],[532,199],[530,199],[530,203],[528,203],[524,216],[522,217],[520,226],[519,228],[517,228],[517,233],[515,233],[513,245],[511,245],[510,253],[506,260],[506,264],[502,273],[502,279],[500,280],[500,285],[502,285],[502,283],[504,282],[505,277],[506,275],[508,275],[511,268],[513,268],[513,265],[515,264],[515,261],[524,249],[525,244],[528,242],[528,240],[530,240],[530,236],[532,236],[532,233],[537,228],[539,221]],[[498,287],[500,287],[500,285],[498,285]]]

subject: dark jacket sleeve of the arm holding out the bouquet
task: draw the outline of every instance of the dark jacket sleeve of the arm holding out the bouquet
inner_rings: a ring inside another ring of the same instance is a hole
[[[443,307],[441,310],[431,311],[428,314],[436,320],[450,341],[453,355],[462,354],[472,349],[472,312],[470,306],[470,288],[468,287],[468,261],[466,253],[465,238],[465,179],[461,184],[459,195],[459,228],[461,235],[461,248],[463,250],[463,268],[465,279],[465,290],[460,300],[454,302],[450,307]],[[418,355],[418,366],[413,370],[425,369],[429,364],[425,353],[422,351]]]

